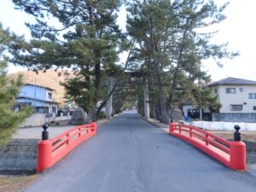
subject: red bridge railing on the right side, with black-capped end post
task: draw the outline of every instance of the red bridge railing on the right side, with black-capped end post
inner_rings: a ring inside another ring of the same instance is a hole
[[[200,148],[225,166],[229,166],[234,170],[245,171],[246,145],[241,142],[240,133],[238,132],[239,129],[236,130],[236,141],[233,142],[197,127],[182,124],[171,123],[169,125],[169,134],[191,143],[196,148]]]

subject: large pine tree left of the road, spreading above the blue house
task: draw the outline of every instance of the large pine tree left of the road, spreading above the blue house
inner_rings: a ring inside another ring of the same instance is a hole
[[[32,41],[16,49],[14,62],[33,70],[70,67],[76,78],[63,84],[67,98],[89,113],[104,99],[104,79],[116,69],[125,37],[116,24],[120,1],[13,0],[36,18],[26,24]],[[50,20],[55,21],[54,25]],[[23,52],[22,52],[23,51]],[[26,54],[24,54],[24,52]]]

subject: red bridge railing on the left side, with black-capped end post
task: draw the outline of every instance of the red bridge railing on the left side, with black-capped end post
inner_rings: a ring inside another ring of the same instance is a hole
[[[48,127],[48,126],[47,126]],[[86,139],[96,135],[96,123],[79,125],[62,133],[54,139],[48,139],[48,131],[44,128],[43,140],[38,143],[38,172],[43,172],[66,156]],[[46,137],[45,135],[46,134]]]

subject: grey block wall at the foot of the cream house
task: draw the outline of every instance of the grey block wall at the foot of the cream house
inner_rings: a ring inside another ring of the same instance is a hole
[[[212,121],[256,123],[256,113],[212,113]]]

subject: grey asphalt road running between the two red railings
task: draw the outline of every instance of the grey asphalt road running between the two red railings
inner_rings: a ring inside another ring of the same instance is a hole
[[[123,113],[45,171],[29,192],[256,192],[235,172],[134,113]]]

